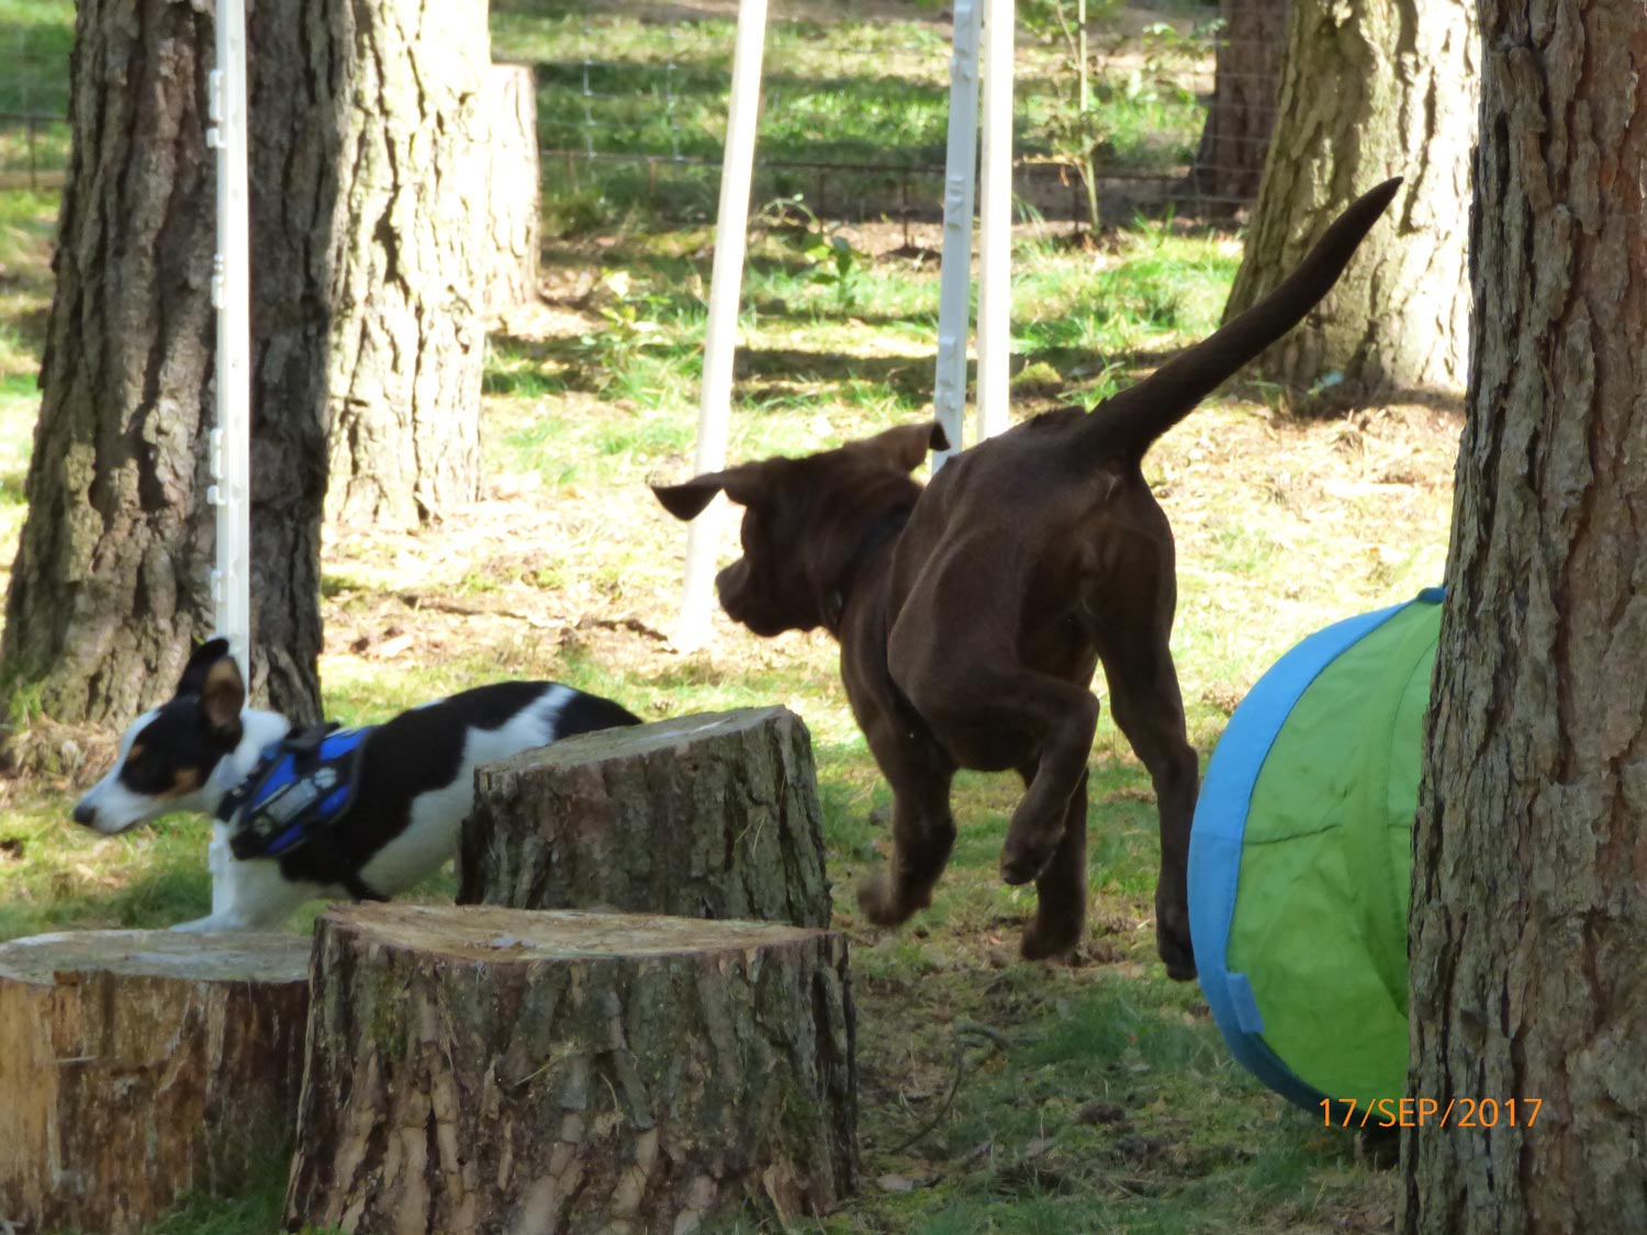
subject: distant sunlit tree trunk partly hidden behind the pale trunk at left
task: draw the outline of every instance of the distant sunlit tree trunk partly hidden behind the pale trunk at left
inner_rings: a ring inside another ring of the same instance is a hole
[[[542,211],[537,171],[537,77],[530,64],[492,64],[486,76],[486,316],[537,300]]]

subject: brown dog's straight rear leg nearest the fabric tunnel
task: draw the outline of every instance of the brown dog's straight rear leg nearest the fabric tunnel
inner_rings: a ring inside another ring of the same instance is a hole
[[[1189,825],[1196,815],[1201,766],[1184,728],[1184,700],[1173,654],[1163,641],[1130,645],[1127,655],[1103,660],[1110,683],[1110,713],[1133,751],[1150,769],[1161,815],[1161,874],[1155,886],[1155,942],[1166,973],[1178,981],[1196,976],[1189,944]]]

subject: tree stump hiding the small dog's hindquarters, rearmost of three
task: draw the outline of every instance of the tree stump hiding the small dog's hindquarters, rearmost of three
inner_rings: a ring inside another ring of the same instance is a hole
[[[474,781],[460,904],[828,925],[812,741],[787,708],[585,733]]]

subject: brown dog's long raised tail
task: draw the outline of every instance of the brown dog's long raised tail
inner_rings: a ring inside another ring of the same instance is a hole
[[[1355,247],[1400,186],[1402,178],[1397,176],[1357,198],[1275,291],[1138,385],[1105,400],[1089,418],[1082,436],[1084,461],[1141,458],[1150,443],[1194,412],[1196,403],[1225,377],[1296,326],[1332,290]]]

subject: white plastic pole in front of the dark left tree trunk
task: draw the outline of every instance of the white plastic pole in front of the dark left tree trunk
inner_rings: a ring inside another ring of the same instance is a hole
[[[252,645],[252,310],[245,193],[245,8],[217,0],[217,68],[208,89],[217,151],[217,255],[212,305],[217,308],[217,426],[211,433],[214,484],[206,501],[217,507],[217,566],[211,594],[217,634],[250,677]]]

